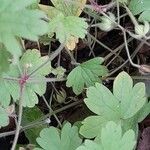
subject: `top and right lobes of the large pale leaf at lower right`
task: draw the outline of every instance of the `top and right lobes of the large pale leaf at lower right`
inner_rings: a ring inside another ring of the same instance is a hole
[[[124,119],[134,116],[146,103],[145,84],[137,83],[133,87],[132,78],[125,72],[114,81],[114,96],[121,102],[121,116]]]

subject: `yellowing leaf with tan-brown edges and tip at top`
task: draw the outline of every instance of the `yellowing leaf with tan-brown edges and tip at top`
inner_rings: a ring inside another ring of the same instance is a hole
[[[39,5],[50,18],[49,33],[56,33],[56,38],[65,43],[69,50],[73,50],[78,38],[83,39],[87,33],[88,24],[85,19],[78,17],[86,0],[52,0],[52,3],[55,7]]]

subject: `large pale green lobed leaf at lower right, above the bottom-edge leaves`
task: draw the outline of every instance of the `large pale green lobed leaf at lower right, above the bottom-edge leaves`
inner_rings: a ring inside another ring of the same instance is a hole
[[[99,83],[87,89],[84,102],[98,116],[88,117],[82,122],[80,134],[84,137],[96,137],[107,121],[121,123],[123,132],[133,129],[137,133],[139,119],[146,117],[149,112],[147,108],[142,114],[143,107],[148,103],[145,85],[137,83],[133,86],[131,77],[121,72],[114,81],[113,93]]]

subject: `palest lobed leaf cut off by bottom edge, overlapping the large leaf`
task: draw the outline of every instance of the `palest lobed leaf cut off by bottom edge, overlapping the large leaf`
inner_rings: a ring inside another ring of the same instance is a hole
[[[122,134],[121,125],[110,121],[102,128],[100,143],[86,140],[83,146],[77,150],[133,150],[136,144],[133,130],[128,130]]]

